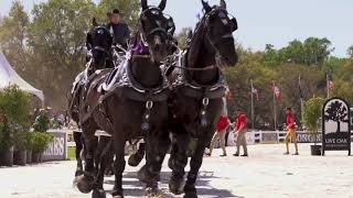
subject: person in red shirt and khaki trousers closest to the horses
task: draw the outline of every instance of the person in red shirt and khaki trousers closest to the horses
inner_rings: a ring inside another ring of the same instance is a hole
[[[225,134],[229,125],[231,125],[231,122],[225,114],[222,114],[216,125],[217,131],[214,133],[211,142],[210,153],[206,154],[207,156],[212,155],[212,150],[214,148],[214,145],[218,140],[221,140],[221,147],[223,150],[223,155],[221,156],[222,157],[227,156],[227,152],[225,150]]]

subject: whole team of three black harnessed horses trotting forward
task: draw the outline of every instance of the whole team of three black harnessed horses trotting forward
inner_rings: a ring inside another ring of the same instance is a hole
[[[173,19],[163,13],[165,4],[162,0],[159,7],[149,7],[141,0],[137,31],[119,65],[114,57],[116,46],[111,46],[111,35],[104,25],[94,20],[87,35],[92,56],[74,84],[69,111],[84,140],[84,167],[78,161],[75,182],[82,193],[93,190],[94,198],[106,197],[104,175],[113,156],[113,197],[124,197],[126,142],[141,139],[146,163],[138,178],[146,184],[147,195],[160,194],[160,172],[170,152],[170,191],[197,197],[197,173],[223,108],[225,79],[220,67],[237,63],[233,37],[237,22],[224,0],[214,7],[202,0],[204,15],[190,33],[186,47],[179,50]],[[111,138],[98,141],[97,130]],[[185,182],[191,140],[196,140],[196,146]]]

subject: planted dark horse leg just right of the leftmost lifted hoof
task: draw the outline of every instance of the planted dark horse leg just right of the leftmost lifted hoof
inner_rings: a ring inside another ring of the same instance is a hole
[[[103,183],[104,183],[104,173],[107,166],[107,157],[108,157],[110,146],[111,146],[111,139],[107,136],[100,136],[98,142],[99,152],[97,152],[98,167],[97,167],[97,175],[95,178],[94,191],[92,194],[92,198],[106,197],[106,194],[103,188]]]

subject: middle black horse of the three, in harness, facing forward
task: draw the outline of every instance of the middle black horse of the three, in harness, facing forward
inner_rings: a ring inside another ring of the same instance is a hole
[[[83,101],[79,105],[79,121],[86,142],[85,174],[77,179],[83,193],[94,189],[93,197],[104,197],[104,169],[107,155],[100,156],[97,176],[94,173],[94,134],[103,129],[113,135],[115,160],[114,197],[122,197],[122,173],[125,169],[126,141],[143,138],[148,189],[157,193],[162,161],[170,142],[157,145],[159,136],[167,133],[169,85],[161,72],[161,62],[172,53],[174,23],[163,14],[167,0],[160,6],[148,7],[141,0],[142,13],[136,33],[135,46],[125,65],[114,70],[98,70],[93,74]],[[108,150],[110,145],[107,145]],[[160,150],[164,147],[164,150]],[[103,152],[107,153],[107,152]]]

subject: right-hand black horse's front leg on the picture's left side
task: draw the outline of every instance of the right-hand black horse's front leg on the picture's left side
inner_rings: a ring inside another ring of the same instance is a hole
[[[185,166],[188,164],[188,148],[190,136],[186,133],[174,134],[172,140],[172,151],[168,165],[172,169],[169,182],[169,189],[174,195],[183,193]]]

